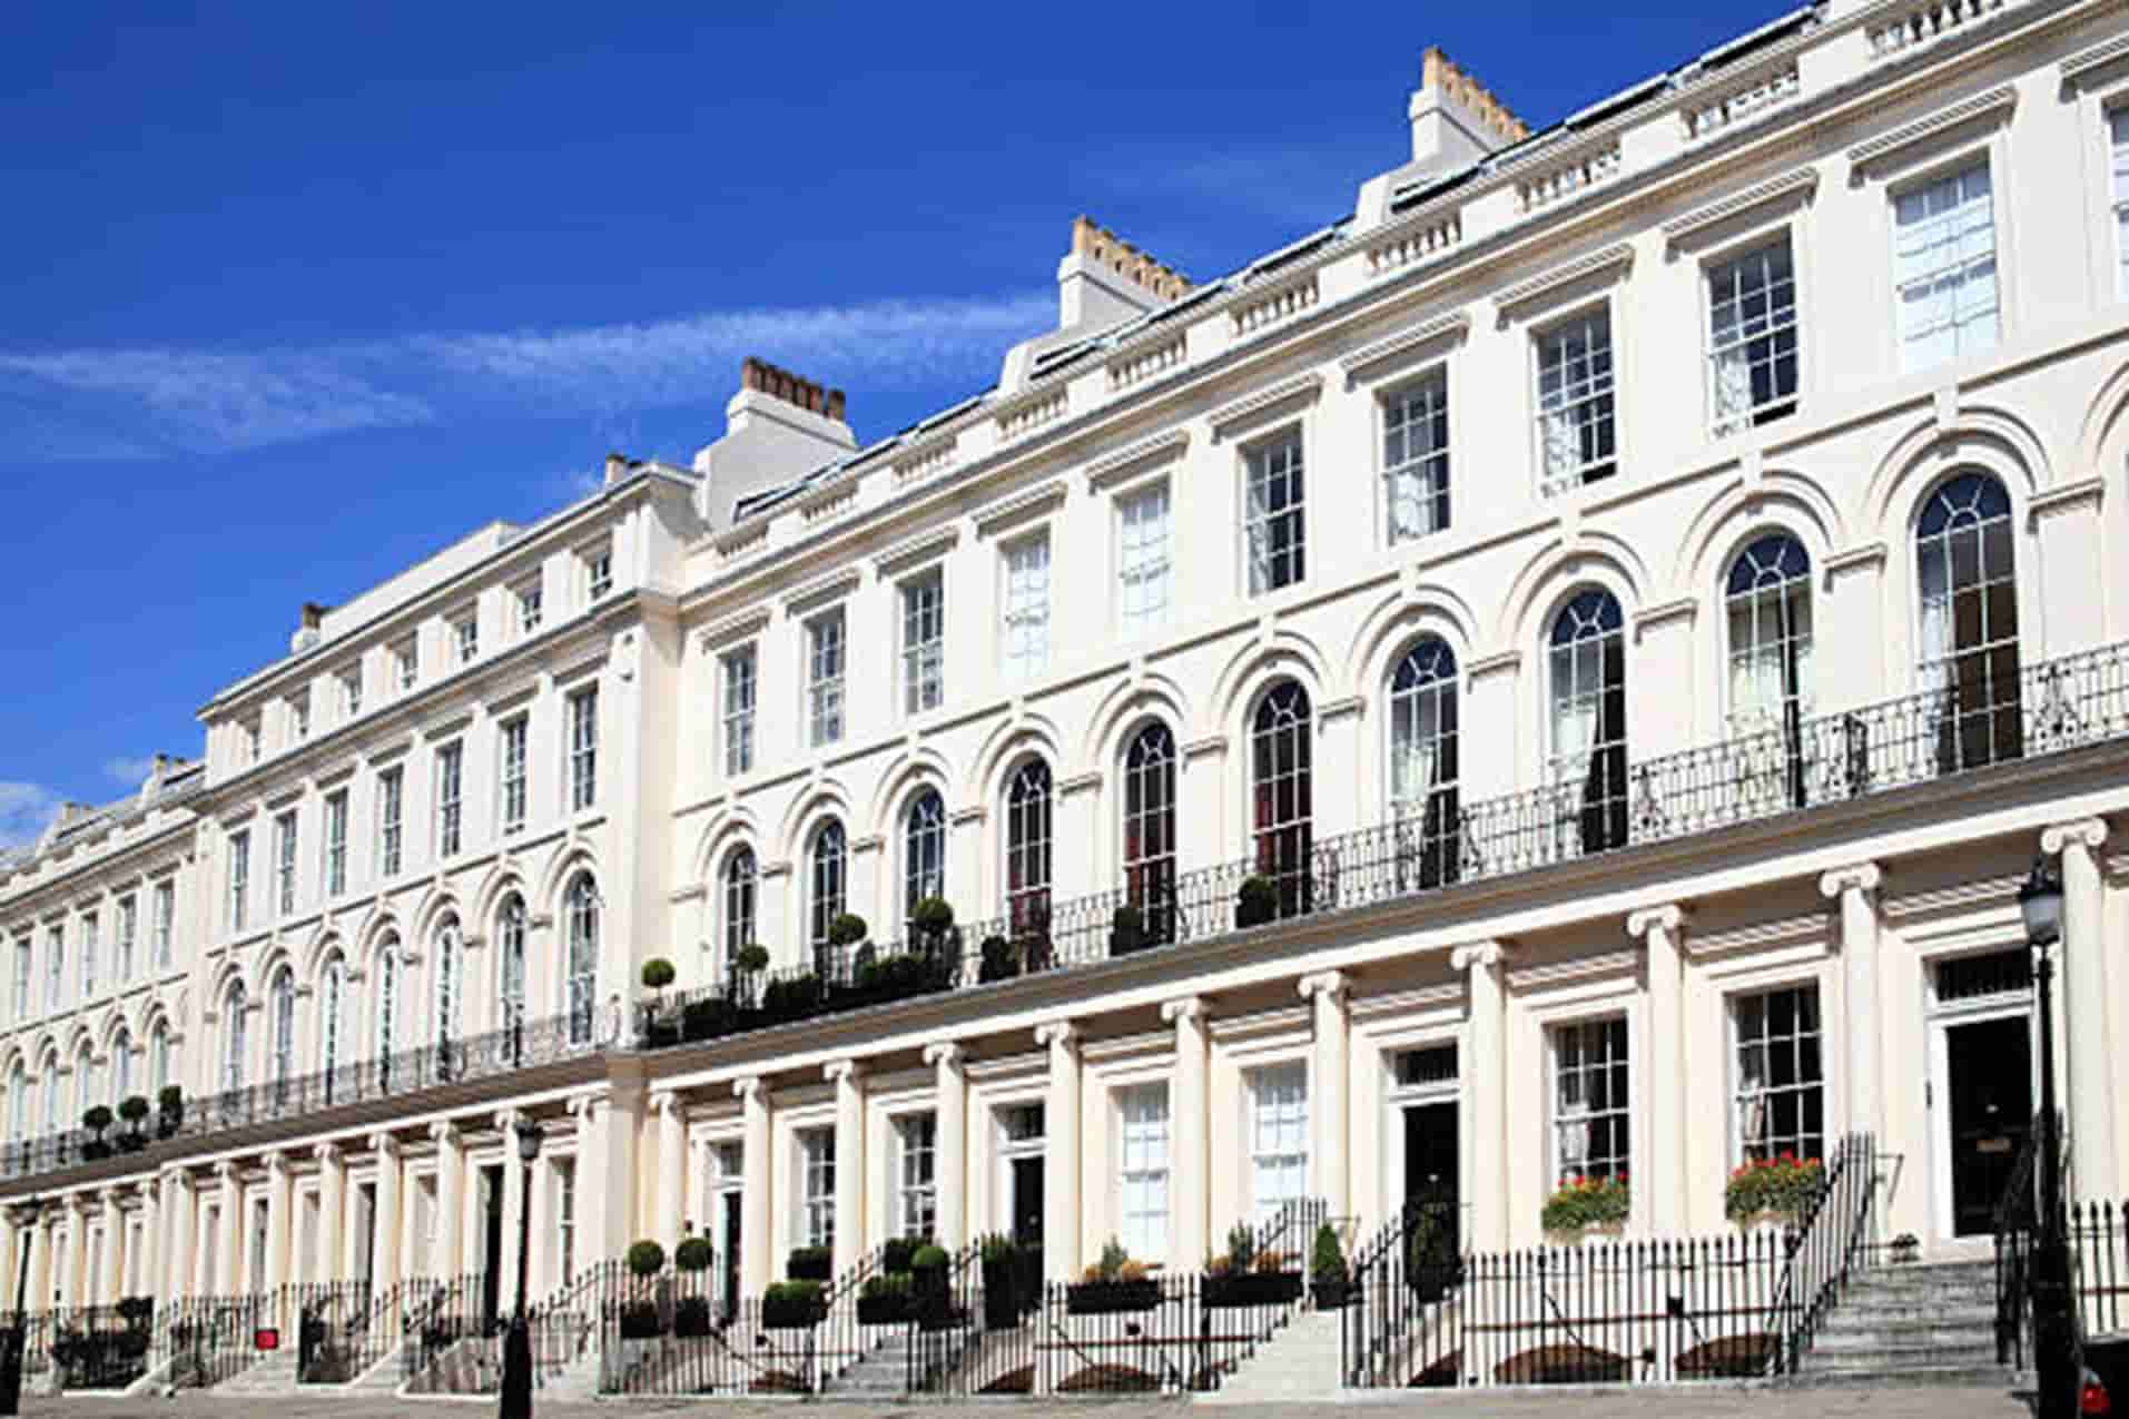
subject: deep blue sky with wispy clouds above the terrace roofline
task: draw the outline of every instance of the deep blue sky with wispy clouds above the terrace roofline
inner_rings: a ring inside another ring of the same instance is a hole
[[[0,844],[304,599],[683,462],[745,354],[871,441],[1047,328],[1079,211],[1196,277],[1350,211],[1431,43],[1544,126],[1786,6],[739,9],[11,9]]]

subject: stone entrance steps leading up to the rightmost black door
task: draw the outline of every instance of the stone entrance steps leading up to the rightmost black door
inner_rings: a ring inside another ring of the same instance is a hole
[[[2012,1379],[1995,1349],[1995,1266],[1944,1261],[1856,1272],[1788,1383],[2010,1387]]]

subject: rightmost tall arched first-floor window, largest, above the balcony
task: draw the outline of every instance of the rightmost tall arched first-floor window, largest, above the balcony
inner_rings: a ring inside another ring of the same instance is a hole
[[[1937,771],[2016,759],[2018,569],[2010,494],[1959,473],[1922,503],[1914,528],[1920,588],[1918,682],[1937,695]]]

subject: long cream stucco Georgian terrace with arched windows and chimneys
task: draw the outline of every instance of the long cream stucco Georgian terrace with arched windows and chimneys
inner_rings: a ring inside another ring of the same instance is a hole
[[[1850,1133],[1984,1255],[2035,854],[2118,1195],[2129,6],[1825,0],[1541,132],[1429,51],[1409,119],[1209,283],[1079,219],[884,443],[749,360],[692,467],[304,607],[0,861],[4,1274],[1179,1272],[1567,1176],[1684,1238]]]

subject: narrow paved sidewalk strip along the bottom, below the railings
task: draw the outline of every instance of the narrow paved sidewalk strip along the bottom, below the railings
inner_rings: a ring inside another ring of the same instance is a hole
[[[628,1415],[694,1413],[715,1419],[796,1419],[796,1410],[822,1419],[2029,1419],[2031,1408],[2001,1389],[1635,1389],[1635,1391],[1463,1391],[1397,1393],[1388,1400],[1348,1404],[1226,1404],[1192,1408],[1184,1400],[1075,1400],[984,1404],[803,1404],[747,1400],[609,1400],[596,1404],[534,1402],[537,1419],[628,1419]],[[236,1398],[185,1393],[177,1400],[113,1400],[68,1396],[23,1398],[23,1415],[36,1419],[475,1419],[494,1415],[483,1400],[396,1400],[339,1396]]]

